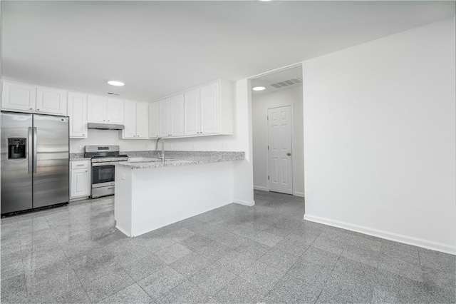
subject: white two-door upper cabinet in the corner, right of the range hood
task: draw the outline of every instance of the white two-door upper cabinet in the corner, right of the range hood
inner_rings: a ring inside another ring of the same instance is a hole
[[[149,138],[149,104],[137,101],[125,101],[124,103],[125,129],[122,137]]]

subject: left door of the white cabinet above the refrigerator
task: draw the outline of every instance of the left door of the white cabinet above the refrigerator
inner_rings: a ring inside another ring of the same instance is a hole
[[[21,112],[35,111],[36,86],[4,81],[1,94],[1,109]]]

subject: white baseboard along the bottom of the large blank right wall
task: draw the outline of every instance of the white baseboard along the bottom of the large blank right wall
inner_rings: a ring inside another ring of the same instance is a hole
[[[359,233],[376,236],[378,238],[385,238],[386,240],[394,240],[396,242],[405,243],[408,245],[415,245],[421,248],[437,250],[443,253],[456,254],[456,247],[444,243],[433,242],[432,240],[424,240],[423,238],[413,238],[408,235],[390,233],[384,230],[373,229],[366,226],[353,225],[351,223],[345,223],[341,221],[334,221],[329,218],[321,218],[319,216],[311,216],[309,214],[304,215],[304,220],[315,223],[321,223],[337,228],[343,228],[346,230],[352,230]]]

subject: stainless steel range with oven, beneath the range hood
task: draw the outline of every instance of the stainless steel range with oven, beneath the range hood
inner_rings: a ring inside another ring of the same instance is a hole
[[[92,198],[112,196],[115,190],[115,163],[128,161],[119,154],[119,146],[86,146],[86,158],[92,163]]]

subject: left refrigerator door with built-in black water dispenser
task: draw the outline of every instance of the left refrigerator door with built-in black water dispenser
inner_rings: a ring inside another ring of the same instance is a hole
[[[32,208],[31,136],[32,114],[1,113],[1,214]]]

